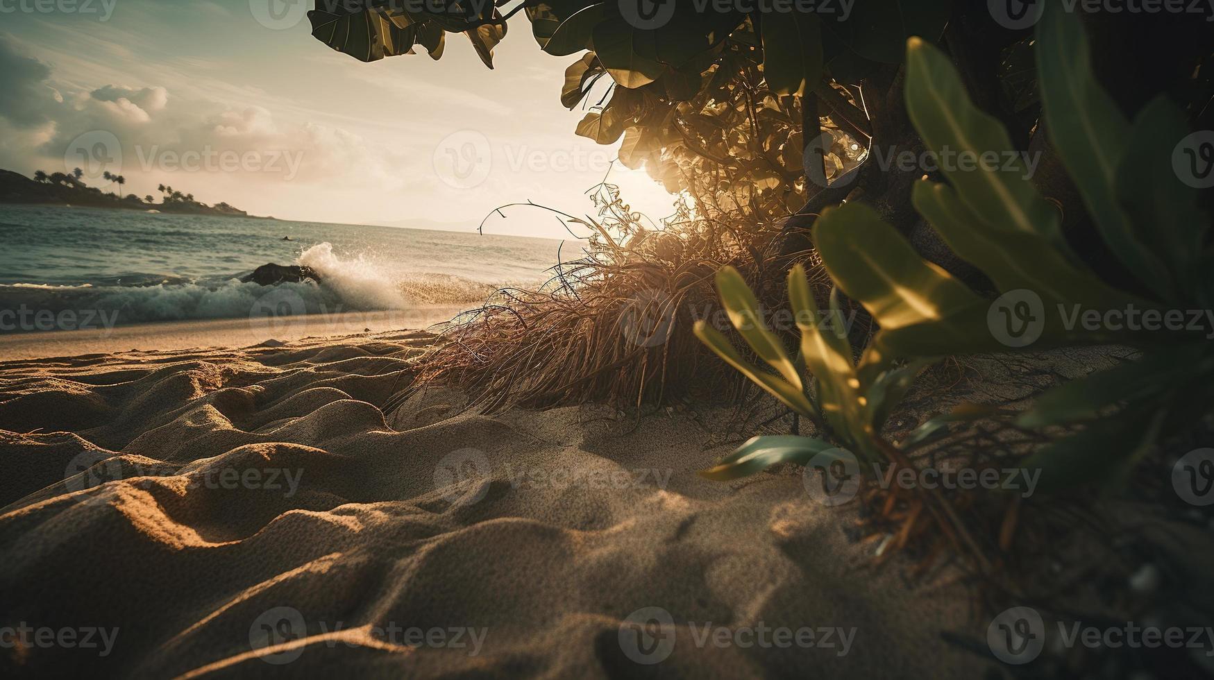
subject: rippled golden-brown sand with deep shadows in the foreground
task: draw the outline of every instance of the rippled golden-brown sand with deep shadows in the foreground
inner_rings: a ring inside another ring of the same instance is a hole
[[[0,674],[985,667],[940,636],[985,638],[964,593],[866,568],[855,517],[795,471],[698,477],[738,440],[679,409],[487,416],[444,390],[393,401],[431,342],[395,332],[5,362],[0,631],[23,641],[0,647]]]

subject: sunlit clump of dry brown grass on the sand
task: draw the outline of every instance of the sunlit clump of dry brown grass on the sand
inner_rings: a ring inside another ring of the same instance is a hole
[[[585,257],[555,267],[538,290],[503,289],[456,317],[446,342],[421,362],[418,385],[460,389],[488,410],[589,401],[640,407],[705,385],[737,397],[741,375],[692,335],[697,318],[728,328],[716,271],[737,267],[770,311],[784,305],[781,284],[794,262],[828,282],[813,253],[779,254],[779,222],[693,217],[680,204],[659,228],[646,226],[611,185],[591,198],[599,219],[562,220],[590,231]]]

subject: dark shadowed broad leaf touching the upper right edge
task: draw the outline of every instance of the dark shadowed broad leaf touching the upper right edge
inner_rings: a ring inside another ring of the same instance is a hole
[[[1179,295],[1168,302],[1197,302],[1208,307],[1214,300],[1201,294],[1204,287],[1198,261],[1210,217],[1198,208],[1197,191],[1181,182],[1173,168],[1173,154],[1187,135],[1184,113],[1167,97],[1148,103],[1134,121],[1122,155],[1116,200],[1130,215],[1139,237],[1150,243],[1172,270]],[[1180,153],[1184,154],[1184,149]]]

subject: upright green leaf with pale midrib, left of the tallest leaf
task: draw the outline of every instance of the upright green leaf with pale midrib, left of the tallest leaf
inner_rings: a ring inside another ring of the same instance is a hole
[[[1015,148],[1008,131],[974,106],[948,57],[918,38],[907,41],[906,101],[915,129],[941,154],[941,170],[975,215],[1002,231],[1039,234],[1067,251],[1057,212],[1028,181],[1023,162],[1005,157]]]

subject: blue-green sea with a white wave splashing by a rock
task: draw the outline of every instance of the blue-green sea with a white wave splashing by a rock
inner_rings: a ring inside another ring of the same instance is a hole
[[[0,205],[0,334],[471,308],[499,287],[548,280],[558,253],[580,254],[578,243],[473,231],[40,205]],[[267,262],[310,266],[322,283],[240,283]]]

